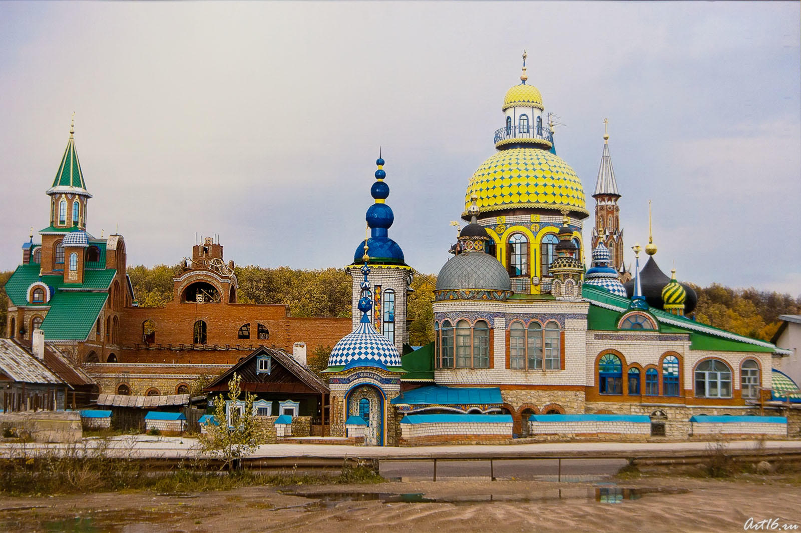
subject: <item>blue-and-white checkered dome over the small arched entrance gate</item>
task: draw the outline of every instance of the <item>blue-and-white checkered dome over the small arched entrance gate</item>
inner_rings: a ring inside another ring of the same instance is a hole
[[[365,320],[366,319],[366,320]],[[400,367],[400,355],[392,342],[372,326],[367,315],[356,330],[345,335],[328,356],[328,367]]]

